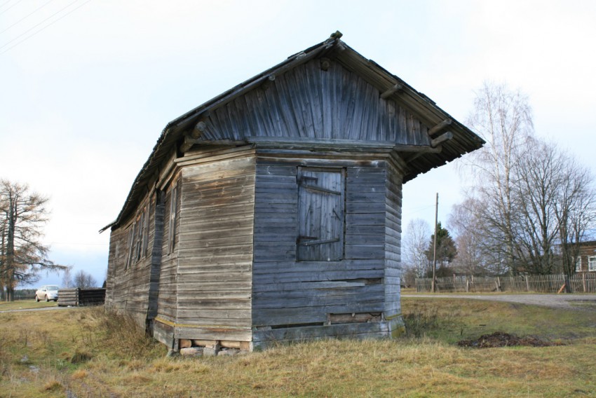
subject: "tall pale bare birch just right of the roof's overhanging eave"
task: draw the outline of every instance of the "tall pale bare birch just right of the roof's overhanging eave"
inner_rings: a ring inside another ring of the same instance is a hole
[[[515,184],[513,168],[527,151],[527,142],[534,133],[531,108],[519,90],[511,91],[504,84],[485,82],[477,93],[474,110],[467,121],[470,128],[485,139],[478,151],[465,156],[461,170],[473,178],[468,198],[482,201],[478,207],[484,233],[494,244],[493,250],[504,266],[515,272],[515,231],[513,217]]]

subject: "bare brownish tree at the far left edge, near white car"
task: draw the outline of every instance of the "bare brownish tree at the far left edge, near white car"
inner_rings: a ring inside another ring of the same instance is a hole
[[[36,282],[41,270],[64,268],[47,259],[49,248],[41,242],[47,201],[27,185],[0,180],[0,284],[7,301],[18,284]]]

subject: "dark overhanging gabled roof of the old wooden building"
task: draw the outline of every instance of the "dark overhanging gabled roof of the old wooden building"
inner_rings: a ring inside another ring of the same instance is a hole
[[[357,74],[374,88],[377,88],[382,93],[381,97],[394,98],[400,105],[412,112],[416,118],[419,118],[421,123],[428,126],[429,130],[432,130],[435,126],[437,126],[435,129],[437,132],[444,130],[446,126],[449,128],[451,135],[449,135],[447,141],[442,142],[440,151],[424,153],[424,156],[412,156],[408,160],[408,167],[411,171],[405,176],[405,181],[414,178],[417,174],[427,172],[434,167],[459,158],[463,153],[478,149],[484,144],[484,141],[478,135],[475,135],[466,126],[449,116],[447,112],[440,109],[426,95],[414,90],[405,81],[386,71],[376,62],[367,60],[347,46],[340,38],[341,33],[336,32],[322,43],[287,57],[280,64],[236,85],[236,87],[223,92],[168,123],[161,132],[147,162],[135,178],[118,218],[103,228],[102,231],[110,226],[118,225],[130,212],[135,210],[137,201],[147,192],[147,183],[160,170],[160,165],[167,160],[172,148],[182,142],[185,132],[193,129],[203,116],[254,90],[265,83],[270,76],[280,76],[316,58],[329,57],[335,62],[339,62],[342,67]]]

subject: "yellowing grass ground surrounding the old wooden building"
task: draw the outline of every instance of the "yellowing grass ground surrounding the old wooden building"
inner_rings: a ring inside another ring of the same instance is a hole
[[[596,314],[404,299],[409,336],[318,341],[239,357],[166,358],[101,308],[0,314],[1,397],[596,396]],[[492,331],[564,343],[459,348]]]

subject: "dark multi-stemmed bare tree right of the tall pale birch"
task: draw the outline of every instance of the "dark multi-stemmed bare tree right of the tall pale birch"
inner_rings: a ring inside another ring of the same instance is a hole
[[[531,273],[572,275],[578,244],[596,221],[594,179],[555,144],[534,139],[531,148],[516,167],[517,254]]]

